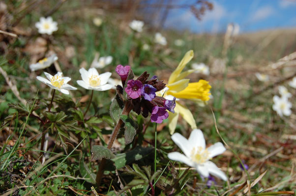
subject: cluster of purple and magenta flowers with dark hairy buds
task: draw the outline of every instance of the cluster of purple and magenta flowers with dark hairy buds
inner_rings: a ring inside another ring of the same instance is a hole
[[[156,95],[156,93],[163,90],[166,85],[163,81],[158,81],[156,75],[148,79],[149,74],[144,72],[136,80],[128,79],[129,73],[132,72],[130,66],[124,67],[122,65],[117,66],[116,72],[125,87],[126,98],[131,100],[133,104],[134,112],[137,114],[142,113],[145,118],[148,117],[150,113],[151,122],[155,123],[162,123],[163,120],[167,119],[169,117],[168,111],[172,113],[175,112],[176,98],[169,100]]]

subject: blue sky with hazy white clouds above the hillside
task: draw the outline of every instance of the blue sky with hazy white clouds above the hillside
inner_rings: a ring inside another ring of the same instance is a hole
[[[195,2],[186,2],[190,1]],[[198,21],[190,9],[172,9],[165,27],[189,29],[193,32],[224,31],[229,23],[238,24],[240,32],[296,27],[296,0],[209,1],[214,4],[214,8],[207,11],[202,21]]]

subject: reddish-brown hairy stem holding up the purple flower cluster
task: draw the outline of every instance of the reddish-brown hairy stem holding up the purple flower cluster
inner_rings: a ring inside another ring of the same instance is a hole
[[[133,105],[131,104],[131,101],[126,101],[121,114],[128,115],[129,112],[132,109],[133,109]],[[118,123],[114,127],[114,129],[112,131],[112,134],[111,134],[111,137],[109,139],[108,146],[107,146],[108,149],[111,149],[111,147],[113,146],[113,143],[117,138],[118,132],[119,132],[120,127],[121,127],[122,124],[123,124],[123,121],[121,119],[119,119]],[[102,158],[101,164],[99,166],[99,170],[98,170],[98,172],[96,174],[95,181],[96,181],[97,187],[99,187],[99,185],[101,184],[104,169],[105,169],[105,165],[106,165],[106,161],[107,160],[105,158]]]

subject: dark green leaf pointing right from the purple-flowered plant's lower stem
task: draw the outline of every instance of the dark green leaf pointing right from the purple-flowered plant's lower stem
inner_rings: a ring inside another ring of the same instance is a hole
[[[148,156],[152,150],[152,147],[136,147],[135,149],[126,153],[117,154],[116,157],[112,159],[112,161],[114,161],[116,169],[120,169],[133,161],[138,161]]]

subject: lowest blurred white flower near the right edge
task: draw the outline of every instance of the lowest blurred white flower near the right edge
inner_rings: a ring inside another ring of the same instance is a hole
[[[272,109],[276,111],[280,117],[283,117],[283,115],[290,116],[292,114],[292,103],[288,101],[288,98],[279,98],[275,95],[273,96],[273,102],[274,104],[272,105]]]

